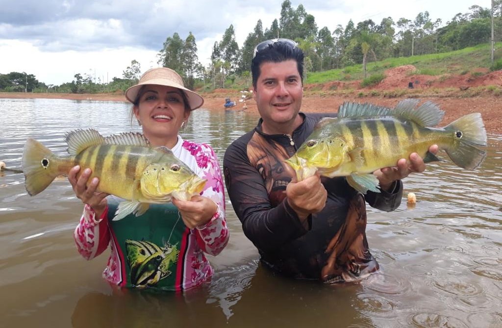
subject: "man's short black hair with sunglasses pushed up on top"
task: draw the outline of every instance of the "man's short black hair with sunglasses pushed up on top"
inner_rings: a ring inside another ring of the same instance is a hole
[[[265,62],[280,63],[293,59],[296,61],[298,73],[303,84],[303,59],[304,54],[296,42],[289,39],[273,39],[261,42],[255,48],[255,56],[251,61],[251,74],[253,86],[256,88],[260,76],[260,65]]]

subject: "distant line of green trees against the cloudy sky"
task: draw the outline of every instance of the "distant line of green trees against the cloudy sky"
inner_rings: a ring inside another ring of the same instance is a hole
[[[339,69],[354,64],[365,65],[368,61],[380,61],[391,57],[409,57],[463,49],[491,41],[493,15],[494,40],[502,37],[502,0],[495,0],[491,8],[473,5],[469,12],[455,15],[443,26],[440,19],[433,20],[429,12],[419,13],[414,19],[400,18],[394,21],[384,18],[380,24],[365,20],[354,24],[336,25],[318,29],[314,16],[307,13],[303,5],[296,9],[289,0],[282,3],[279,20],[263,29],[258,20],[254,30],[249,32],[242,47],[235,41],[235,31],[230,25],[219,42],[215,42],[211,63],[204,66],[197,56],[195,36],[190,32],[183,40],[178,33],[167,37],[159,51],[158,63],[178,71],[190,88],[224,88],[240,85],[249,86],[250,62],[256,45],[273,38],[295,40],[305,52],[307,72]],[[502,60],[498,59],[497,60]],[[500,65],[498,63],[497,65]],[[0,74],[0,90],[28,92],[94,93],[125,90],[134,84],[141,73],[140,64],[133,60],[121,78],[114,77],[104,83],[90,74],[75,74],[72,82],[61,85],[46,85],[33,74],[11,72]]]

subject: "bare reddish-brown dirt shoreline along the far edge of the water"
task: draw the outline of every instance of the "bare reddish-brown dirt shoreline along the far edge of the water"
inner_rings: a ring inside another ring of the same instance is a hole
[[[232,108],[225,109],[223,103],[225,98],[236,93],[235,90],[219,89],[213,93],[201,93],[204,97],[203,108],[215,111],[244,111],[258,115],[256,102],[254,99],[246,101],[247,108],[243,108],[243,103],[238,102],[237,95],[232,100],[237,100],[237,104]],[[409,97],[409,96],[408,96]],[[415,96],[416,97],[416,96]],[[69,99],[69,100],[92,100],[92,101],[123,101],[127,102],[122,92],[115,93],[32,93],[32,92],[0,92],[0,98],[42,98],[42,99]],[[344,101],[369,102],[384,106],[395,106],[399,101],[407,98],[383,96],[351,96],[351,95],[325,95],[311,94],[304,92],[302,101],[302,112],[305,113],[334,113]],[[496,95],[478,95],[468,98],[445,97],[445,96],[423,96],[419,97],[423,101],[432,101],[439,105],[445,112],[441,127],[451,123],[461,116],[478,112],[483,118],[487,134],[502,135],[502,97]]]

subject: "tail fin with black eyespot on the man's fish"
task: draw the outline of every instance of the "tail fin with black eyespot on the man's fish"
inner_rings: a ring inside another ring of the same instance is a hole
[[[444,129],[455,134],[455,143],[445,149],[453,163],[467,170],[478,167],[486,157],[486,152],[476,146],[486,146],[487,142],[481,114],[465,115]]]

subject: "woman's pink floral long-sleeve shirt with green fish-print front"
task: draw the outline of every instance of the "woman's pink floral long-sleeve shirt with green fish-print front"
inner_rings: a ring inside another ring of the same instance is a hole
[[[90,260],[109,245],[111,254],[103,277],[112,284],[162,290],[196,286],[213,273],[204,253],[217,255],[228,242],[223,180],[214,151],[180,136],[172,151],[207,179],[201,195],[218,205],[217,212],[203,227],[188,229],[172,203],[153,204],[145,214],[128,215],[120,221],[111,221],[121,201],[115,196],[108,196],[101,217],[95,217],[85,205],[74,233],[77,250]]]

